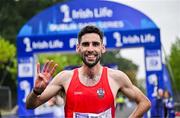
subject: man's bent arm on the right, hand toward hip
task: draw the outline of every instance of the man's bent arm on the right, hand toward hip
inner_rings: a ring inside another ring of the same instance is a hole
[[[130,118],[140,118],[145,112],[151,107],[151,102],[149,99],[136,87],[134,86],[127,75],[121,73],[121,91],[128,98],[134,100],[137,103],[137,107],[129,116]]]

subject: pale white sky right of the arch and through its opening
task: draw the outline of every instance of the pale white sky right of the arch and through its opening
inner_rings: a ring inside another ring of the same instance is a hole
[[[110,0],[135,8],[160,28],[162,57],[170,54],[172,43],[180,37],[180,0]],[[121,55],[139,66],[137,78],[145,78],[144,49],[121,49]],[[163,59],[164,61],[164,59]]]

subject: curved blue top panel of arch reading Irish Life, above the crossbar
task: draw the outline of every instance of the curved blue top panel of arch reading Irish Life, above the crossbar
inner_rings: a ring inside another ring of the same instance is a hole
[[[110,1],[73,0],[40,12],[22,27],[18,37],[77,33],[88,24],[104,31],[157,28],[150,18],[131,7]]]

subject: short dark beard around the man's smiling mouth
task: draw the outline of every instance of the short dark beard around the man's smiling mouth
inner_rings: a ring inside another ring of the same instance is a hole
[[[86,65],[86,66],[88,66],[89,68],[92,68],[92,67],[94,67],[99,61],[100,61],[100,59],[101,59],[101,55],[102,54],[98,54],[97,52],[96,53],[94,53],[94,52],[92,52],[91,53],[91,55],[94,55],[95,57],[96,57],[96,59],[94,60],[94,61],[88,61],[87,59],[86,59],[86,57],[89,55],[89,54],[81,54],[81,59],[82,59],[82,61],[84,62],[84,64]]]

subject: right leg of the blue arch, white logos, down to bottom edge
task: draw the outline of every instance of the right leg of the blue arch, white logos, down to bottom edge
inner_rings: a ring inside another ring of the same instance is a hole
[[[145,48],[146,90],[152,107],[148,117],[164,117],[161,49]]]

